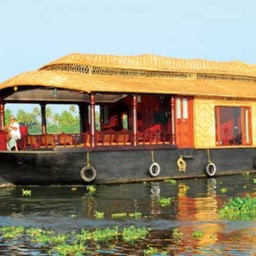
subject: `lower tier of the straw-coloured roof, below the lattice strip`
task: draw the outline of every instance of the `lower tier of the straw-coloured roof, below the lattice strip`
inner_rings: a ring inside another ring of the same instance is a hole
[[[44,86],[61,90],[76,90],[83,93],[106,94],[176,94],[187,96],[225,96],[256,98],[256,83],[253,81],[215,79],[177,79],[90,75],[39,70],[21,73],[0,84],[0,90],[19,86]]]

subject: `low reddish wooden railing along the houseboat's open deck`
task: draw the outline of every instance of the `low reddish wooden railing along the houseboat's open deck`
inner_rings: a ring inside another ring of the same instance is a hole
[[[26,135],[18,141],[20,149],[26,148],[90,148],[91,137],[88,132],[79,134],[48,134]],[[160,131],[144,131],[137,134],[137,145],[172,144],[170,133]],[[97,131],[95,135],[96,147],[123,147],[134,145],[131,131]]]

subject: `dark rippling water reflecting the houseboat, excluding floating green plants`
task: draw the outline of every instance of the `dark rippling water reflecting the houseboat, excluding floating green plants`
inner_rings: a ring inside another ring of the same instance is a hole
[[[21,225],[64,234],[131,226],[150,230],[145,239],[133,243],[90,244],[90,255],[146,255],[150,247],[158,250],[154,255],[256,255],[256,221],[230,221],[218,215],[230,197],[256,196],[255,177],[96,186],[93,193],[86,186],[0,189],[0,228]],[[21,189],[30,189],[32,195],[22,196]],[[170,205],[160,204],[160,198],[170,197]],[[97,219],[96,212],[103,212],[104,218]],[[117,212],[140,212],[142,217],[113,218]],[[180,239],[174,230],[182,234]],[[195,238],[196,232],[203,236]],[[1,255],[47,255],[51,248],[26,236],[4,239],[0,232]]]

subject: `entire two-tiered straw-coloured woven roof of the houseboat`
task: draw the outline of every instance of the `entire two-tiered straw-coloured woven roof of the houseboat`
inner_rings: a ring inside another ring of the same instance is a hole
[[[256,65],[156,55],[72,54],[37,71],[21,73],[0,84],[0,89],[20,85],[85,92],[256,98]]]

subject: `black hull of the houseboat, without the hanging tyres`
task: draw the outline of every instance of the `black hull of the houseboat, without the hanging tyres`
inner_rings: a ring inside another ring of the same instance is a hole
[[[185,172],[178,170],[180,155],[186,162]],[[0,187],[86,184],[80,172],[88,163],[96,169],[96,178],[90,183],[107,184],[206,177],[209,160],[216,166],[216,176],[253,172],[254,159],[254,148],[0,151]],[[152,160],[160,165],[157,177],[148,173]]]

